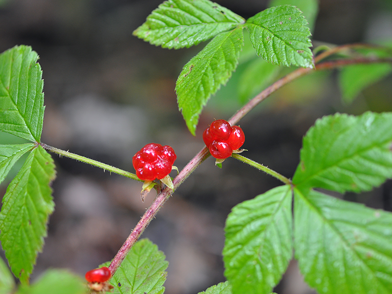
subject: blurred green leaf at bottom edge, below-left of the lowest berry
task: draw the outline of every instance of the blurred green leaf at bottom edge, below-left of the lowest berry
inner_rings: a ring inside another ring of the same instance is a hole
[[[45,271],[31,286],[22,285],[16,294],[87,294],[85,281],[61,269]]]

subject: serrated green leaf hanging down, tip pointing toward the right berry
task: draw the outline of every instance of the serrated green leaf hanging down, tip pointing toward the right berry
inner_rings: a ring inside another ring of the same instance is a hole
[[[193,135],[202,107],[237,66],[242,44],[242,27],[221,32],[179,74],[175,85],[178,107]]]

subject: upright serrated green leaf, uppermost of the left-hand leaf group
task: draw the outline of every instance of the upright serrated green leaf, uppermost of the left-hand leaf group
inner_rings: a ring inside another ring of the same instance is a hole
[[[0,54],[0,129],[39,142],[45,107],[37,58],[23,45]]]

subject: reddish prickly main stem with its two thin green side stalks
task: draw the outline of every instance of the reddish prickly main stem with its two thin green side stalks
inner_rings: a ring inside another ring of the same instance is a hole
[[[336,68],[342,65],[346,64],[351,64],[351,63],[370,63],[370,62],[392,62],[392,60],[389,58],[352,58],[352,59],[338,59],[338,60],[328,60],[324,62],[320,62],[322,59],[337,53],[339,51],[345,50],[347,48],[353,48],[353,47],[364,47],[366,45],[364,44],[351,44],[351,45],[343,45],[343,46],[337,46],[334,47],[330,50],[324,51],[317,55],[314,58],[315,62],[315,68],[303,68],[300,67],[287,75],[283,76],[279,80],[275,81],[273,84],[271,84],[269,87],[265,88],[263,91],[261,91],[259,94],[257,94],[254,98],[252,98],[249,102],[247,102],[242,108],[240,108],[231,118],[228,120],[228,122],[233,125],[236,124],[246,113],[248,113],[251,109],[253,109],[258,103],[263,101],[266,97],[268,97],[271,93],[282,87],[283,85],[289,83],[290,81],[303,76],[312,70],[321,70],[321,69],[332,69]],[[101,163],[96,160],[92,160],[74,153],[70,153],[68,151],[64,151],[61,149],[57,149],[55,147],[48,146],[44,143],[40,143],[40,145],[51,152],[57,153],[60,156],[67,156],[76,160],[80,160],[98,167],[101,167],[103,169],[107,169],[111,172],[115,172],[124,176],[127,176],[132,179],[139,180],[137,176],[133,173],[121,170],[119,168]],[[162,191],[160,191],[151,205],[147,208],[141,219],[137,222],[136,226],[130,233],[130,235],[126,238],[125,242],[122,244],[121,248],[118,250],[117,254],[114,256],[113,260],[111,261],[109,265],[109,269],[111,272],[111,275],[115,273],[117,270],[118,266],[121,264],[122,260],[125,258],[127,253],[129,252],[130,248],[133,246],[133,244],[137,241],[141,233],[144,231],[144,229],[147,227],[149,222],[154,218],[160,207],[164,204],[164,202],[170,197],[170,195],[173,193],[173,191],[190,175],[190,173],[193,172],[193,170],[201,163],[203,162],[210,153],[208,152],[208,148],[204,147],[201,149],[189,162],[188,164],[185,165],[185,167],[177,174],[177,176],[173,179],[173,185],[174,189],[170,189],[166,187]],[[232,157],[241,160],[251,166],[254,166],[260,170],[263,170],[267,172],[268,174],[278,178],[282,182],[286,184],[291,184],[291,180],[284,177],[283,175],[273,171],[272,169],[265,167],[253,160],[250,160],[246,157],[243,157],[238,154],[232,154]]]

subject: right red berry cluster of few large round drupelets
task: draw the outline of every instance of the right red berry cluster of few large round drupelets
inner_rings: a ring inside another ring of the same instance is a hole
[[[218,119],[204,130],[203,141],[213,157],[224,159],[242,146],[245,135],[239,126],[230,126],[226,120]]]

